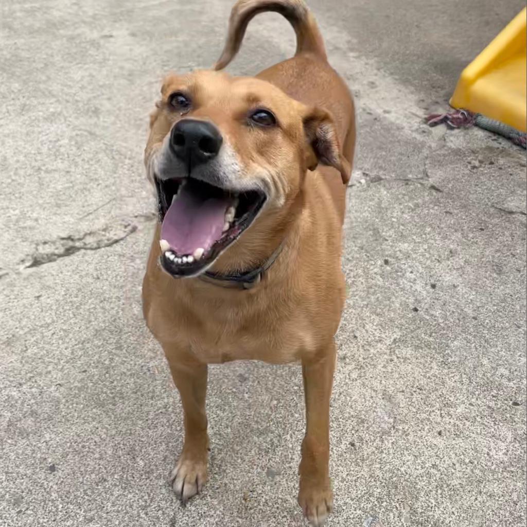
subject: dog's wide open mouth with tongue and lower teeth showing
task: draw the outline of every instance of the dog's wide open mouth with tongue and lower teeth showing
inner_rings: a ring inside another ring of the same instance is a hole
[[[266,196],[233,192],[193,179],[155,178],[161,265],[174,277],[201,274],[255,220]]]

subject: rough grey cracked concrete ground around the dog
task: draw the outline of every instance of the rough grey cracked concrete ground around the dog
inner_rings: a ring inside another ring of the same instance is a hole
[[[359,122],[327,525],[524,525],[525,151],[423,124],[523,3],[309,4]],[[164,73],[217,58],[230,5],[2,3],[3,527],[303,524],[299,368],[211,368],[210,482],[182,509],[179,398],[141,319],[148,114]],[[293,50],[261,15],[230,70]]]

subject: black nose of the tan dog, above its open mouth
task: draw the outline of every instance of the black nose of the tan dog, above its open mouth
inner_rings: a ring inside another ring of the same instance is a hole
[[[193,167],[214,159],[223,138],[212,123],[196,119],[182,119],[172,128],[170,148],[172,152]]]

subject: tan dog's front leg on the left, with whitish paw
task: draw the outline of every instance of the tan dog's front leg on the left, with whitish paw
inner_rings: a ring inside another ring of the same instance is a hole
[[[207,435],[207,365],[172,357],[165,349],[174,384],[183,406],[185,438],[183,451],[170,475],[172,488],[184,504],[199,494],[207,481],[209,436]]]

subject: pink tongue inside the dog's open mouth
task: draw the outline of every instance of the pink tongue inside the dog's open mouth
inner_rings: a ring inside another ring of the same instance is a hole
[[[227,198],[201,197],[185,185],[165,214],[161,239],[180,256],[192,255],[200,247],[207,252],[221,238],[229,205]]]

